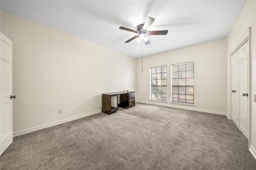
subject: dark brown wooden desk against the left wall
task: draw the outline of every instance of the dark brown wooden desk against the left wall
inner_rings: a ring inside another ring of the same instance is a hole
[[[116,96],[117,108],[111,106],[111,97]],[[120,96],[120,103],[118,104],[118,96]],[[102,94],[102,112],[107,114],[115,113],[118,107],[131,108],[135,106],[135,92],[111,92]]]

